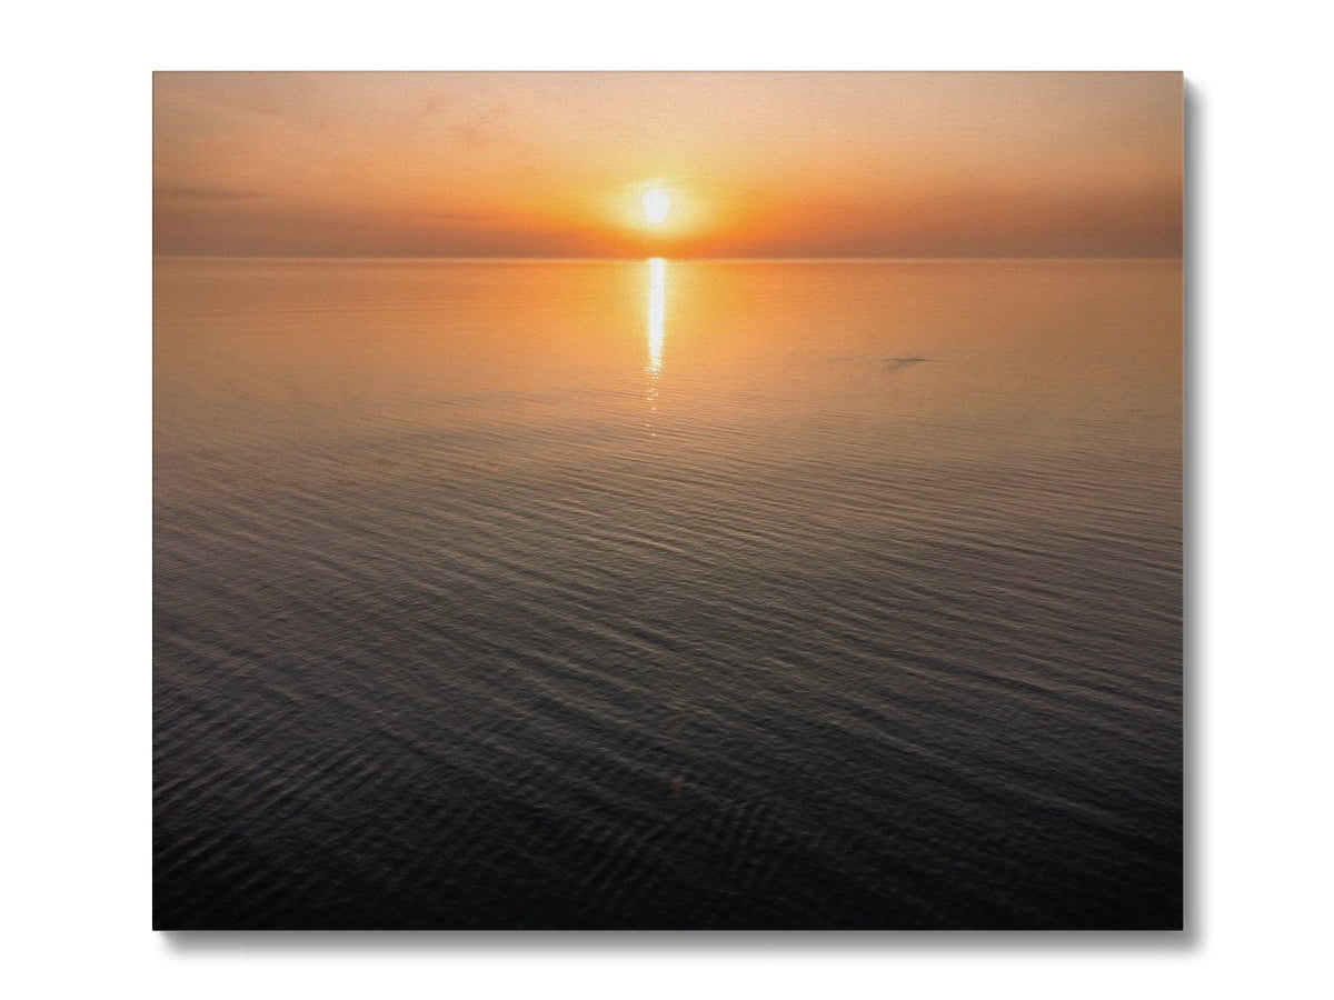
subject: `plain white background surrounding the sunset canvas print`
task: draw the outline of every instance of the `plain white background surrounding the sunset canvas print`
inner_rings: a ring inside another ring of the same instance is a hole
[[[9,996],[1329,996],[1331,177],[1321,7],[72,4],[4,75]],[[1185,935],[151,929],[152,69],[1183,69]]]

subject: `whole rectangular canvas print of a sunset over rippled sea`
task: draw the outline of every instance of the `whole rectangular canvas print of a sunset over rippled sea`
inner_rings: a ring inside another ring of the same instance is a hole
[[[1182,77],[153,77],[153,911],[1182,925]]]

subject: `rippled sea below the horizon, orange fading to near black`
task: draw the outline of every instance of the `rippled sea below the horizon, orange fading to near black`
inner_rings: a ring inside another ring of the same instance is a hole
[[[1179,285],[157,261],[156,925],[1179,925]]]

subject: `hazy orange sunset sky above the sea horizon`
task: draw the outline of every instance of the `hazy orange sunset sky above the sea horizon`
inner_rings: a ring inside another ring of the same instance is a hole
[[[153,75],[159,255],[1173,257],[1181,216],[1179,73]]]

